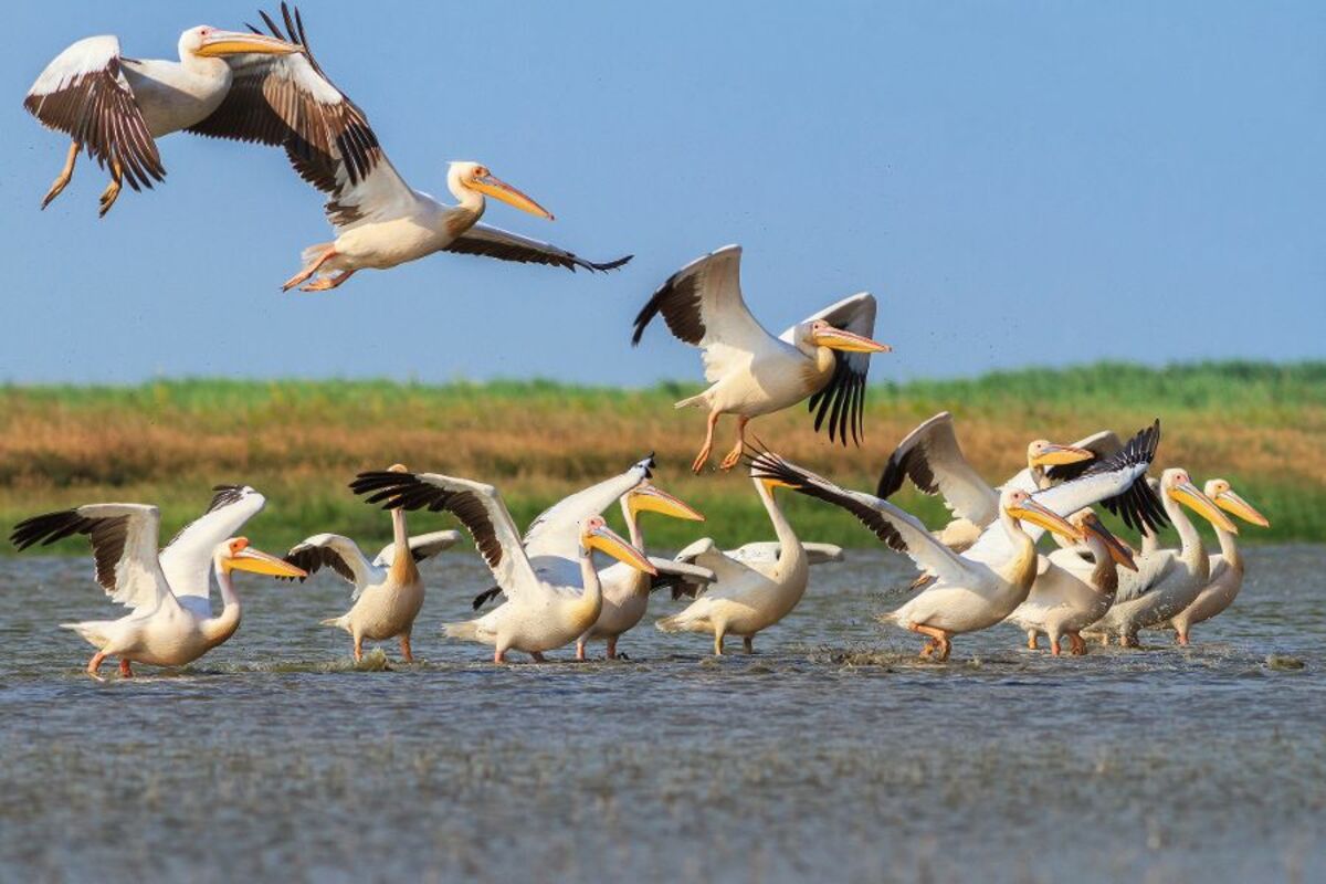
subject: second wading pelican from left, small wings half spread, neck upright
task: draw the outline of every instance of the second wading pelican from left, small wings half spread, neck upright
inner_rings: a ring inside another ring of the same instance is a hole
[[[395,473],[406,472],[403,464],[387,468]],[[406,663],[414,663],[410,649],[410,634],[415,618],[423,607],[423,578],[418,562],[450,549],[460,539],[459,531],[432,531],[410,537],[406,529],[406,514],[400,509],[391,510],[392,541],[378,553],[374,561],[359,550],[359,545],[341,534],[314,534],[297,543],[285,555],[285,561],[314,574],[322,566],[343,577],[354,586],[350,600],[354,606],[338,618],[322,620],[322,626],[345,630],[354,640],[354,660],[363,659],[363,640],[400,640],[400,656]],[[398,555],[396,550],[408,550],[408,555]]]

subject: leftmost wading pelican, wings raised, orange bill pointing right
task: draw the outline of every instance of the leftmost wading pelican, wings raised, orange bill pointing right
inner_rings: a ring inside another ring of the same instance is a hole
[[[88,661],[88,675],[101,680],[98,669],[107,656],[119,657],[119,673],[131,677],[130,663],[182,667],[229,639],[240,626],[240,599],[231,571],[271,577],[304,577],[304,571],[274,555],[260,553],[244,537],[217,543],[212,565],[224,608],[217,616],[198,614],[180,604],[171,590],[156,553],[160,513],[143,504],[89,504],[46,513],[20,522],[9,539],[20,550],[33,543],[53,543],[73,534],[91,541],[97,582],[113,602],[133,611],[118,620],[62,623],[88,640],[97,653]]]

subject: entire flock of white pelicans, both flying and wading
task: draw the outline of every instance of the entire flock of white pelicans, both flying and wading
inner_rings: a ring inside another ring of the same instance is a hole
[[[452,163],[447,184],[457,205],[411,190],[383,155],[363,113],[322,73],[308,48],[298,12],[281,8],[284,28],[263,13],[268,33],[186,30],[179,62],[121,56],[115,37],[90,37],[62,52],[41,73],[27,107],[46,126],[66,133],[65,167],[46,193],[49,204],[69,183],[84,151],[111,182],[101,197],[105,215],[125,182],[134,190],[164,176],[155,139],[172,131],[278,146],[294,170],[329,195],[325,211],[337,237],[305,250],[305,265],[285,282],[304,290],[339,286],[361,269],[386,269],[434,252],[483,254],[574,270],[609,270],[630,256],[594,264],[565,249],[509,233],[479,219],[485,196],[552,219],[534,200],[479,163]],[[99,677],[106,657],[131,664],[186,665],[229,639],[240,626],[233,571],[304,579],[322,567],[354,586],[353,606],[325,626],[345,630],[361,659],[363,641],[396,639],[407,661],[424,598],[418,563],[456,543],[460,534],[411,534],[407,512],[448,513],[471,534],[495,586],[473,600],[487,614],[444,626],[447,636],[492,645],[493,661],[508,651],[544,653],[575,644],[583,659],[590,641],[618,656],[623,634],[639,624],[650,595],[670,588],[691,599],[658,620],[664,632],[753,637],[778,623],[801,600],[810,566],[842,558],[827,543],[802,542],[778,508],[785,489],[838,506],[875,537],[906,554],[920,573],[915,596],[882,618],[926,637],[923,656],[945,660],[955,635],[1010,623],[1036,648],[1085,653],[1083,634],[1105,643],[1116,636],[1136,645],[1142,630],[1172,630],[1187,644],[1193,624],[1233,602],[1244,563],[1229,516],[1268,525],[1221,478],[1199,489],[1188,473],[1147,473],[1160,441],[1155,421],[1127,441],[1102,431],[1071,445],[1036,440],[1026,468],[992,486],[967,463],[952,416],[931,417],[890,456],[875,493],[849,490],[773,451],[752,447],[747,424],[809,403],[817,431],[859,443],[870,357],[890,347],[871,338],[875,300],[845,298],[781,335],[772,335],[747,307],[740,288],[741,249],[721,248],[672,274],[635,319],[633,343],[662,315],[680,341],[699,347],[708,387],[676,403],[707,411],[704,443],[692,469],[701,472],[721,415],[736,417],[736,440],[721,469],[744,463],[762,501],[774,539],[723,550],[699,539],[675,558],[646,553],[643,513],[703,521],[703,516],[652,482],[652,456],[619,476],[562,500],[524,533],[492,485],[403,465],[359,473],[351,490],[390,510],[394,539],[373,559],[339,534],[316,534],[284,557],[255,549],[240,529],[265,505],[257,490],[223,485],[207,512],[160,547],[160,514],[143,504],[90,504],[20,522],[11,539],[20,549],[86,535],[95,575],[111,600],[130,612],[114,620],[64,624],[97,651],[88,672]],[[941,494],[953,520],[931,530],[887,498],[904,481]],[[603,513],[619,505],[627,537],[607,527]],[[1140,534],[1138,547],[1115,537],[1093,508],[1103,508]],[[1208,555],[1192,520],[1208,521],[1220,553]],[[1159,545],[1167,524],[1179,549]],[[1058,549],[1042,554],[1049,531]],[[599,567],[594,553],[614,559]],[[216,586],[221,610],[212,608]],[[499,602],[500,600],[500,602]]]

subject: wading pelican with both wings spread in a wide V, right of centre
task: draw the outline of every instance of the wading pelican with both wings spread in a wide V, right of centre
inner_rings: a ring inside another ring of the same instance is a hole
[[[896,551],[906,553],[935,583],[907,604],[882,618],[930,639],[922,656],[939,652],[945,660],[955,634],[994,626],[1026,599],[1037,571],[1036,539],[1049,529],[1077,542],[1078,530],[1065,516],[1094,504],[1123,509],[1126,520],[1148,516],[1136,497],[1160,439],[1159,421],[1143,429],[1113,457],[1081,477],[1030,494],[1005,488],[1000,518],[959,555],[934,537],[916,517],[873,494],[851,492],[777,456],[757,459],[758,473],[778,478],[802,494],[846,509]]]

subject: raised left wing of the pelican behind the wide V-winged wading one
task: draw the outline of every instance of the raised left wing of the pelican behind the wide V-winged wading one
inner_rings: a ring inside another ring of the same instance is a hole
[[[941,411],[898,443],[879,477],[875,494],[887,500],[910,478],[922,493],[943,494],[959,518],[987,526],[998,516],[998,494],[963,455],[953,415]]]

